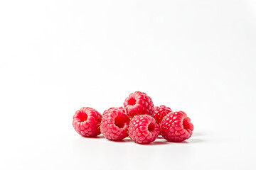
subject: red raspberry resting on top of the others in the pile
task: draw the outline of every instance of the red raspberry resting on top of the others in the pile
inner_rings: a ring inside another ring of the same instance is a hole
[[[153,115],[154,103],[145,93],[136,91],[125,99],[124,109],[130,118],[134,115]]]

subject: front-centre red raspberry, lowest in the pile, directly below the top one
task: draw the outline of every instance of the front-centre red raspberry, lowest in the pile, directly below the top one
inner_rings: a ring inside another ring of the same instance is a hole
[[[139,144],[148,144],[159,135],[159,125],[150,115],[137,115],[129,123],[129,137]]]

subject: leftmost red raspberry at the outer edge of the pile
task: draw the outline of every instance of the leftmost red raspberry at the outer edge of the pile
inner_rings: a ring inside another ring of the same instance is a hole
[[[75,112],[73,127],[79,135],[95,137],[100,135],[102,115],[93,108],[84,107]]]

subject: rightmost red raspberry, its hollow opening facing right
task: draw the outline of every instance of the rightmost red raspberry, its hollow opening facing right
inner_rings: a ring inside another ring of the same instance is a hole
[[[160,125],[161,135],[170,142],[182,142],[192,135],[193,124],[183,111],[166,115]]]

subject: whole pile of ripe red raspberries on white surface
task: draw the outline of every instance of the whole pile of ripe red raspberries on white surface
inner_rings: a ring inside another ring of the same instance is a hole
[[[193,124],[183,111],[154,106],[145,93],[136,91],[124,101],[124,107],[109,108],[102,115],[94,108],[83,107],[73,116],[73,127],[79,135],[102,135],[119,141],[130,137],[138,144],[149,144],[161,135],[169,142],[182,142],[192,135]]]

